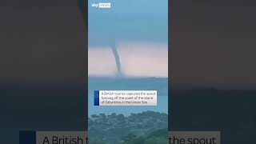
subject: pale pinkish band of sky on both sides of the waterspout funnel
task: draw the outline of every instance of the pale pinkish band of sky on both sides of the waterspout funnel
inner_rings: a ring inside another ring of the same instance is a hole
[[[120,42],[117,50],[121,69],[127,77],[168,77],[168,46],[163,43]],[[89,47],[89,76],[117,74],[114,54],[110,47]]]

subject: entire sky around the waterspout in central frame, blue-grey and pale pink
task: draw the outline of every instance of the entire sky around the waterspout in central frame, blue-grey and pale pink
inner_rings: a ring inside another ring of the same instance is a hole
[[[115,76],[113,43],[128,77],[168,77],[168,6],[161,1],[89,1],[89,75]]]

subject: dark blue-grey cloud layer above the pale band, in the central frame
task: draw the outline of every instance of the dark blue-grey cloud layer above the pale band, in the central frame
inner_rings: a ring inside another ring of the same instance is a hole
[[[111,2],[110,9],[92,3]],[[89,46],[106,46],[113,41],[168,41],[167,0],[89,1]]]

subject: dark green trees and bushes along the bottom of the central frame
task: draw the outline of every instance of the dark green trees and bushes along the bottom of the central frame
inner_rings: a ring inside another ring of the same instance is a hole
[[[88,126],[90,144],[162,144],[167,142],[168,114],[92,114]]]

